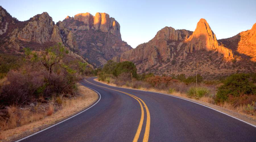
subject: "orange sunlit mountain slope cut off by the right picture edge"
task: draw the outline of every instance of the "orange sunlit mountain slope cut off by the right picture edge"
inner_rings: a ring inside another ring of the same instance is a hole
[[[225,47],[232,49],[236,55],[256,62],[256,23],[251,30],[240,32],[236,36],[218,41]]]

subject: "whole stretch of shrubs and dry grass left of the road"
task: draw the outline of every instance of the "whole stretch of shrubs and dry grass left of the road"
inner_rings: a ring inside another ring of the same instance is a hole
[[[87,63],[69,57],[61,44],[24,55],[0,54],[1,131],[50,116],[79,97],[77,82]]]

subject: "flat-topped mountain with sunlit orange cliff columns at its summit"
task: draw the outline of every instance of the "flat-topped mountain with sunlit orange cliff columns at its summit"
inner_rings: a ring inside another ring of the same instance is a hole
[[[63,24],[74,34],[81,55],[96,67],[102,67],[108,60],[132,49],[122,41],[120,25],[109,14],[80,13],[67,16]]]

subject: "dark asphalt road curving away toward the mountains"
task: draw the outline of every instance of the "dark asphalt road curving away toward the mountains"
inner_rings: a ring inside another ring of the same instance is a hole
[[[22,141],[256,141],[254,126],[197,103],[86,80],[98,103]]]

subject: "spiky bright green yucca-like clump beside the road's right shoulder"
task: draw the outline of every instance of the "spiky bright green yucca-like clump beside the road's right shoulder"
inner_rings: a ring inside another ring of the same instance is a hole
[[[210,90],[205,87],[190,87],[187,91],[187,97],[199,99],[203,96],[209,96]]]

